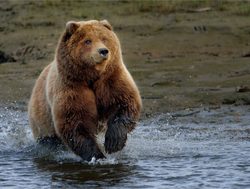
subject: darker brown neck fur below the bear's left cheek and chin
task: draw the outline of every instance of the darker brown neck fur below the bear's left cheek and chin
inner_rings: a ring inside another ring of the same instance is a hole
[[[63,83],[68,85],[83,82],[91,84],[99,78],[94,69],[80,67],[79,65],[84,65],[84,63],[75,62],[66,49],[66,45],[61,43],[56,53],[58,74]]]

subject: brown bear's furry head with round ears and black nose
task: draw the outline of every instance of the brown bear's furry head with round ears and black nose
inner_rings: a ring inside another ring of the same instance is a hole
[[[68,22],[57,48],[58,69],[73,80],[95,80],[120,56],[119,40],[107,20]]]

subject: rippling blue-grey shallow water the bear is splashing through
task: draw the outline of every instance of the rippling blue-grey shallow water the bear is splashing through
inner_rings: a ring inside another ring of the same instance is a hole
[[[0,188],[250,188],[247,106],[141,121],[122,152],[91,163],[37,146],[26,112],[0,120]]]

